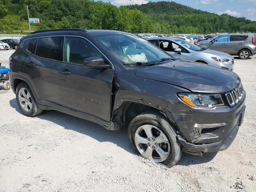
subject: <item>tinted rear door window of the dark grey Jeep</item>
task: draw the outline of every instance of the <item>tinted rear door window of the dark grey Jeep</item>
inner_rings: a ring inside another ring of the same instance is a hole
[[[63,37],[38,38],[36,55],[62,61],[63,39]]]

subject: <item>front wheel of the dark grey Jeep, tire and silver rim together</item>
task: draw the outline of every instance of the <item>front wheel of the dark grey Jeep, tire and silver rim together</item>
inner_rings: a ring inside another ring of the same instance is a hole
[[[151,130],[152,137],[145,130]],[[134,152],[144,158],[149,157],[148,159],[169,168],[180,160],[182,150],[174,128],[160,112],[148,111],[136,116],[129,125],[128,135]]]

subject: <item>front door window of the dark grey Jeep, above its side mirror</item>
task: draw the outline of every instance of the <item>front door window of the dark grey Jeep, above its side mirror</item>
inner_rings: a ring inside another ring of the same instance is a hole
[[[102,54],[83,38],[66,37],[64,43],[64,61],[82,65],[85,58],[97,56],[104,58]],[[106,61],[105,61],[106,62]]]

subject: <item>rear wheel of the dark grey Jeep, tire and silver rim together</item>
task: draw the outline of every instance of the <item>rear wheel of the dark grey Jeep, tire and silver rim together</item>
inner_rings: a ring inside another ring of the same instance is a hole
[[[41,114],[40,109],[28,84],[22,82],[16,88],[16,101],[22,114],[32,117]]]

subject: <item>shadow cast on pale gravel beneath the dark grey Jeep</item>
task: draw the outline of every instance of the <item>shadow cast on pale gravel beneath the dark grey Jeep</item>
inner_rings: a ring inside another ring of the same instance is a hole
[[[10,106],[21,114],[15,98],[10,100]],[[36,116],[36,118],[47,120],[58,124],[65,129],[74,130],[81,134],[85,134],[98,140],[99,142],[112,142],[127,152],[135,154],[130,147],[127,130],[109,131],[94,122],[90,122],[58,111],[44,111],[42,114]],[[178,165],[188,166],[210,162],[216,154],[217,153],[206,153],[201,157],[183,153],[182,158],[178,162]]]

